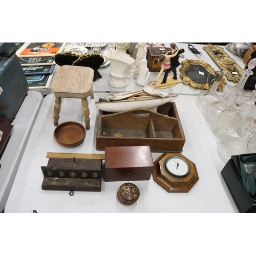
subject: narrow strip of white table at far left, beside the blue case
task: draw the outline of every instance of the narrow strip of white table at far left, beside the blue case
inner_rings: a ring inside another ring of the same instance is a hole
[[[16,118],[11,123],[13,125],[11,137],[0,159],[0,212],[3,211],[7,202],[42,101],[40,93],[28,92]]]

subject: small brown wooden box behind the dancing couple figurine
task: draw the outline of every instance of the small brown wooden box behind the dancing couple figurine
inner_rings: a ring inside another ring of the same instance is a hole
[[[170,51],[170,48],[166,47],[148,47],[147,48],[147,67],[150,71],[160,71],[161,63],[158,62],[159,55],[161,53],[165,54]]]

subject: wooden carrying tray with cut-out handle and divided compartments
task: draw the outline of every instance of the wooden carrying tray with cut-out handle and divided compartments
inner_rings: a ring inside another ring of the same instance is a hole
[[[166,103],[157,111],[134,109],[110,114],[100,110],[96,150],[148,145],[151,152],[182,152],[185,136],[175,103]]]

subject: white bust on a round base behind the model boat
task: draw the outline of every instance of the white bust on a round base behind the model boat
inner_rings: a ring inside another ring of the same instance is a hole
[[[110,59],[111,78],[109,84],[114,88],[124,88],[128,85],[127,75],[130,74],[135,59],[126,53],[130,48],[130,42],[114,42],[115,51],[104,51],[103,55]]]

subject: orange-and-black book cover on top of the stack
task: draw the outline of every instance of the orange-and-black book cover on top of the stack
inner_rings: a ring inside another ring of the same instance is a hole
[[[63,51],[66,42],[25,42],[16,55],[20,56],[52,56]]]

